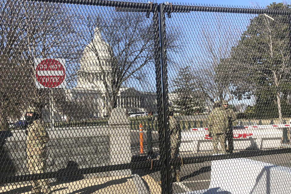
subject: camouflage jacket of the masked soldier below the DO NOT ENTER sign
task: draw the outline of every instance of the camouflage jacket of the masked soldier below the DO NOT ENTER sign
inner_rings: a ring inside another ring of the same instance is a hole
[[[37,119],[27,127],[28,135],[26,137],[26,151],[28,156],[45,156],[45,142],[49,141],[49,136],[44,125]]]

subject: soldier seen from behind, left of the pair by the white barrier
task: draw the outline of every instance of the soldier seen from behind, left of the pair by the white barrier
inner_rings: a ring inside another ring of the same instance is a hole
[[[216,101],[216,107],[209,113],[207,117],[208,130],[211,133],[213,151],[214,153],[218,152],[218,142],[221,145],[221,152],[226,154],[226,128],[228,117],[225,114],[224,110]]]

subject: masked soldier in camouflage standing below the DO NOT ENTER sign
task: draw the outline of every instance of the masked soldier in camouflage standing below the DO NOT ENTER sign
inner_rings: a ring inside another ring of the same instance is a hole
[[[30,174],[46,172],[45,160],[47,149],[45,142],[49,141],[48,134],[42,124],[40,112],[35,107],[29,107],[25,115],[26,120],[26,152],[27,167]],[[50,194],[51,188],[48,179],[32,181],[32,193]]]

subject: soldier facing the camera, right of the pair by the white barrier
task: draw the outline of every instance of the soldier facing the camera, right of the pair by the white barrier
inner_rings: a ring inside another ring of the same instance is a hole
[[[234,122],[236,120],[236,113],[234,113],[234,111],[232,109],[228,108],[228,102],[223,100],[222,101],[222,107],[228,117],[228,126],[226,129],[226,139],[228,142],[228,150],[226,150],[227,152],[232,153],[233,152],[233,132],[232,132],[232,122]]]

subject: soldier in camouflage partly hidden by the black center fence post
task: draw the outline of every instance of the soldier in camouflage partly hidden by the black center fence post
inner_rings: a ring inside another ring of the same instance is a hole
[[[179,157],[179,147],[181,144],[181,127],[179,122],[173,117],[173,110],[169,112],[169,131],[170,131],[170,147],[171,158]],[[172,165],[172,181],[180,182],[180,164]]]

